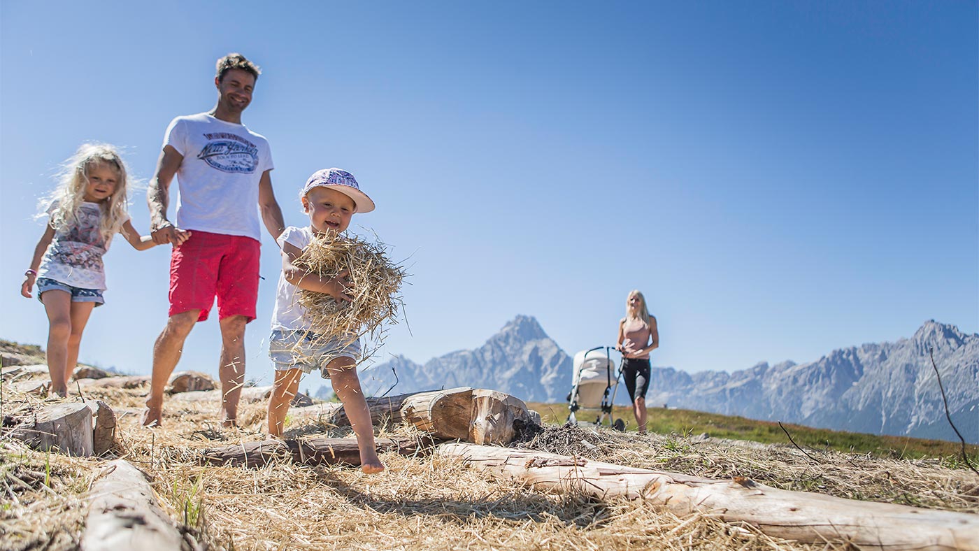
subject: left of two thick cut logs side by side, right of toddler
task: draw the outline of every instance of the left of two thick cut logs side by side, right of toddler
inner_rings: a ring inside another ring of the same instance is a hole
[[[468,439],[473,390],[469,387],[411,394],[401,405],[401,416],[421,431],[446,440]]]

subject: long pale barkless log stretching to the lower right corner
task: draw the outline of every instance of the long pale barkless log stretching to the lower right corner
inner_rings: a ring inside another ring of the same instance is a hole
[[[725,522],[804,543],[861,549],[979,550],[979,516],[787,491],[749,479],[719,481],[537,451],[446,443],[436,452],[470,467],[555,493],[644,498],[677,515],[710,512]]]

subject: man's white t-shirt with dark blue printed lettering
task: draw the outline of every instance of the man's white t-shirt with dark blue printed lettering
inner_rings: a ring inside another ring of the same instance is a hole
[[[258,181],[274,168],[264,136],[201,113],[170,121],[163,146],[184,158],[177,170],[178,227],[261,240]]]

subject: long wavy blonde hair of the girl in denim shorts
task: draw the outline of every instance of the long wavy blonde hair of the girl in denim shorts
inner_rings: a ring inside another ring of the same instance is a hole
[[[58,187],[44,201],[47,208],[53,202],[56,207],[51,212],[51,227],[55,230],[69,228],[78,223],[78,209],[85,201],[85,188],[88,186],[88,168],[93,164],[103,164],[116,171],[116,191],[99,204],[102,217],[99,220],[99,233],[108,244],[122,229],[129,218],[128,183],[125,162],[119,157],[116,148],[109,144],[82,144],[78,151],[65,161],[58,173]]]

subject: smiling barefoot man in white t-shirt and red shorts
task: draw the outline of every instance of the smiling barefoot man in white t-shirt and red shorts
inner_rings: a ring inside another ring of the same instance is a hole
[[[178,116],[166,128],[163,153],[150,181],[153,241],[174,245],[170,258],[169,319],[153,348],[153,378],[143,425],[160,426],[163,388],[191,329],[208,318],[217,298],[221,329],[221,419],[234,426],[245,382],[245,324],[255,319],[261,222],[273,239],[285,224],[272,193],[268,142],[242,124],[260,70],[241,54],[217,60],[217,105]],[[177,176],[176,226],[166,218],[169,186]],[[256,208],[257,205],[257,208]],[[177,247],[177,237],[191,237]]]

